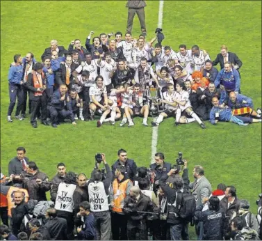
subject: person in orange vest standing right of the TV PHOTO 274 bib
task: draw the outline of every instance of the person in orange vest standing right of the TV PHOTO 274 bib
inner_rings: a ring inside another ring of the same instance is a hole
[[[110,200],[112,206],[112,237],[113,240],[127,240],[126,235],[126,216],[122,208],[124,207],[124,198],[129,194],[133,183],[124,176],[126,168],[122,165],[115,169],[115,180],[113,180],[110,188]]]

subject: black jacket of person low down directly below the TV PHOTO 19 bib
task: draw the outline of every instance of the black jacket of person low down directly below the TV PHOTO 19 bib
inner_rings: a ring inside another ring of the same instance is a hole
[[[67,240],[67,220],[62,217],[47,219],[44,226],[49,231],[51,240]]]

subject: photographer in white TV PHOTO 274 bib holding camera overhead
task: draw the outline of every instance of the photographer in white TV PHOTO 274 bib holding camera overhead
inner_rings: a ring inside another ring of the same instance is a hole
[[[100,169],[92,171],[92,178],[88,182],[88,202],[90,211],[95,217],[95,229],[97,231],[97,240],[110,240],[111,218],[110,218],[110,200],[109,187],[113,178],[110,166],[106,162],[106,156],[101,154],[101,160],[96,160],[97,167],[101,162],[106,168],[106,175]]]

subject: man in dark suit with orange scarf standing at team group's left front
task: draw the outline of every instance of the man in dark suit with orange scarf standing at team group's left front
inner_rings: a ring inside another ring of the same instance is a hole
[[[41,107],[41,118],[43,125],[47,123],[47,77],[42,71],[42,63],[35,63],[33,71],[28,74],[26,87],[30,91],[29,100],[31,100],[31,125],[38,127],[36,116],[38,109]]]

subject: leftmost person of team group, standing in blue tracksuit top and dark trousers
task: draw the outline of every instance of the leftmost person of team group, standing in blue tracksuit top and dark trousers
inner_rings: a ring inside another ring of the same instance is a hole
[[[15,118],[18,120],[24,120],[19,116],[22,109],[22,104],[24,100],[24,91],[22,84],[24,84],[23,79],[23,61],[21,54],[15,54],[14,56],[15,65],[10,65],[8,72],[8,81],[9,81],[9,97],[10,104],[8,107],[7,120],[8,122],[13,122],[11,115],[15,107],[15,102],[17,99],[17,110],[15,111]]]

